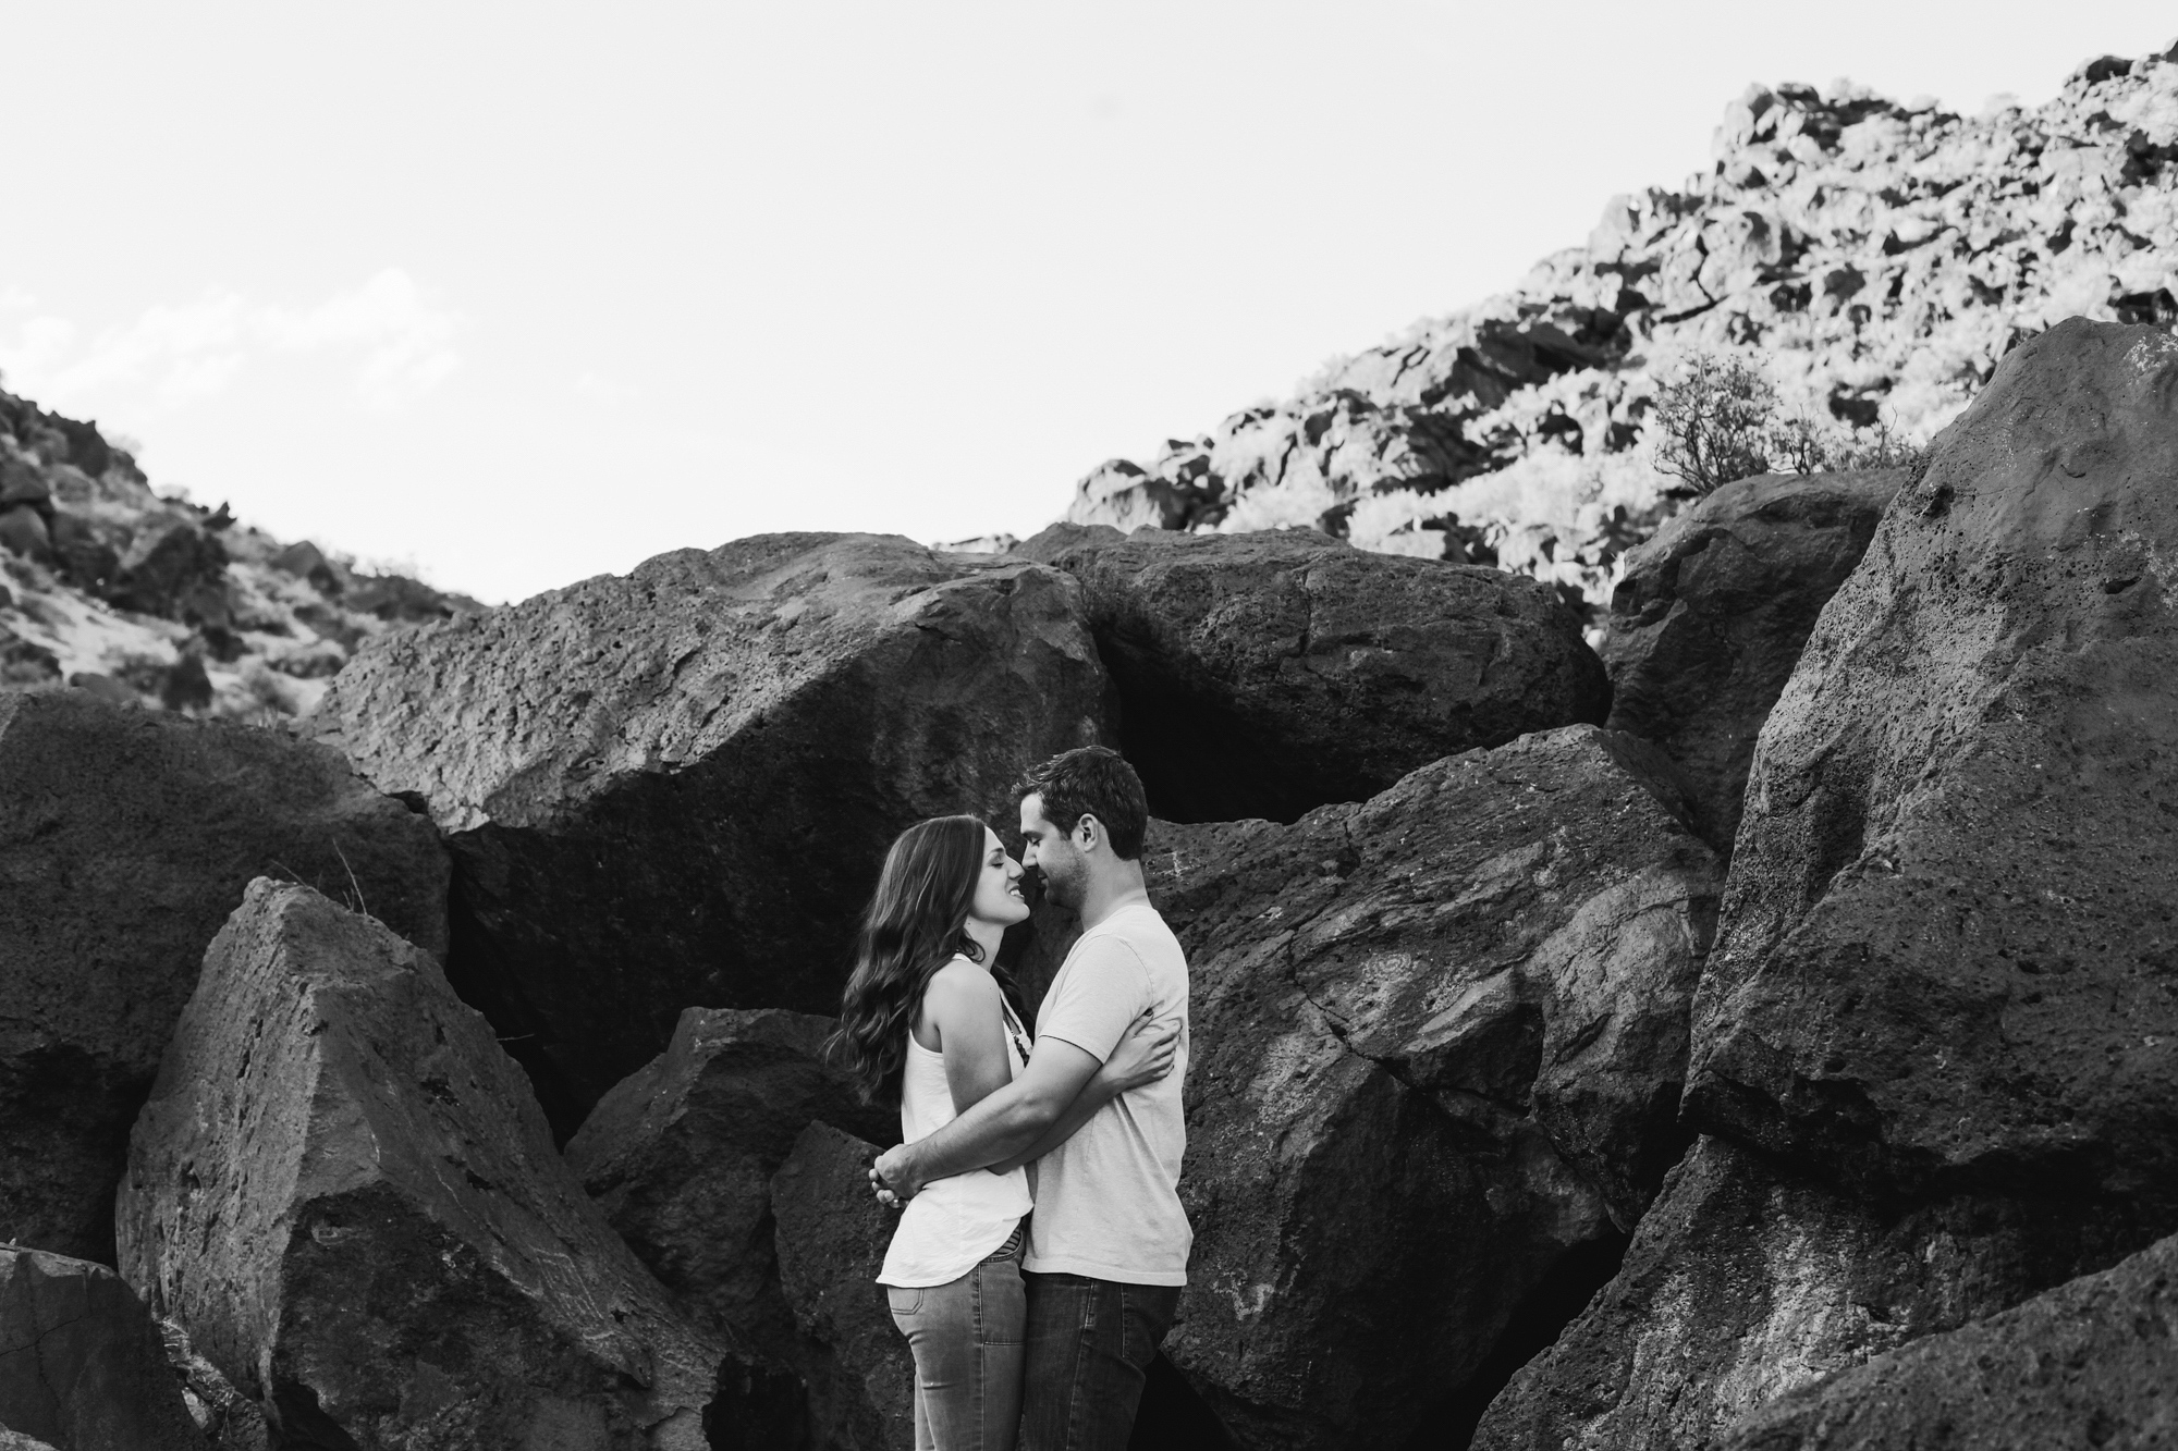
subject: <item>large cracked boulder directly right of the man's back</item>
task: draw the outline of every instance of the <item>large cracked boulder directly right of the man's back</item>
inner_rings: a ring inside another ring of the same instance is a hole
[[[1653,756],[1577,726],[1285,828],[1154,828],[1194,985],[1165,1355],[1241,1444],[1442,1425],[1677,1159],[1716,867]]]

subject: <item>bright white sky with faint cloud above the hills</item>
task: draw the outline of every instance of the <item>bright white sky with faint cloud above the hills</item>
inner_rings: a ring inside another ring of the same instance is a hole
[[[0,370],[484,599],[1028,534],[1705,166],[1749,81],[1980,111],[2174,39],[2134,0],[15,7]]]

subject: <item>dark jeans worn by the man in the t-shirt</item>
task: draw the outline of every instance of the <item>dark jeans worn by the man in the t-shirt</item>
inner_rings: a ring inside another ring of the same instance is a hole
[[[1178,1285],[1085,1275],[1028,1281],[1021,1451],[1126,1451],[1141,1381],[1180,1307]]]

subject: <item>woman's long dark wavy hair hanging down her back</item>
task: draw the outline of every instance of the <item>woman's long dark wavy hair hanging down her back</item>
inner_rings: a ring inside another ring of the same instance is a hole
[[[878,891],[862,909],[839,1028],[825,1044],[865,1102],[900,1102],[908,1026],[939,967],[956,952],[982,961],[982,948],[967,935],[967,913],[982,871],[984,830],[976,817],[930,817],[900,832],[884,854]]]

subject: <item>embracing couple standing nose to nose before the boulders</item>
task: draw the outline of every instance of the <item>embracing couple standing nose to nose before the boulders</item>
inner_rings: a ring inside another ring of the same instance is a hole
[[[878,1277],[915,1353],[915,1444],[1122,1451],[1187,1283],[1187,961],[1141,878],[1148,802],[1082,747],[1019,787],[1021,861],[976,817],[902,832],[862,917],[841,1059],[900,1105]],[[1021,871],[1080,917],[1030,1046],[993,976]]]

